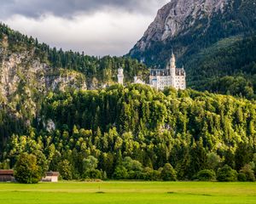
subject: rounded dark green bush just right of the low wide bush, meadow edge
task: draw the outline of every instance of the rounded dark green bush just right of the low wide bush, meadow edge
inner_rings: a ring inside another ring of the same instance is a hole
[[[217,172],[217,180],[218,181],[236,181],[237,180],[237,172],[232,169],[230,166],[225,165],[224,167],[218,168]]]

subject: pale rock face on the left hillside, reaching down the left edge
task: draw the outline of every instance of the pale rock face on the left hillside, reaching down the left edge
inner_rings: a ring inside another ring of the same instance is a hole
[[[30,110],[35,116],[37,95],[66,88],[86,89],[84,75],[54,69],[42,63],[33,50],[9,52],[8,38],[0,40],[0,108],[8,105],[13,115],[20,118],[23,114],[16,108],[21,103],[23,110]]]

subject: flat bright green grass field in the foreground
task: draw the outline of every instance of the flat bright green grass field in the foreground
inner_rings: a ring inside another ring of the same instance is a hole
[[[256,203],[256,183],[102,182],[0,184],[1,204],[247,204]]]

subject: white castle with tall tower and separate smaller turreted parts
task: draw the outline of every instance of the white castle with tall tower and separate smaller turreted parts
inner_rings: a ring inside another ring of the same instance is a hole
[[[124,82],[124,73],[123,69],[119,69],[118,74],[119,83],[123,84]],[[134,77],[134,83],[143,83],[142,80]],[[170,61],[166,65],[166,69],[151,69],[149,76],[150,87],[163,90],[166,87],[172,87],[176,89],[185,89],[186,88],[186,71],[184,68],[176,67],[175,55],[172,53]]]

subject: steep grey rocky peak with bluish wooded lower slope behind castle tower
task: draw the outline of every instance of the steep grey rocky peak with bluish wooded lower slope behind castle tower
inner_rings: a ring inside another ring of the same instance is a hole
[[[254,0],[172,0],[130,51],[147,65],[165,65],[172,48],[183,56],[225,37],[256,30]]]

